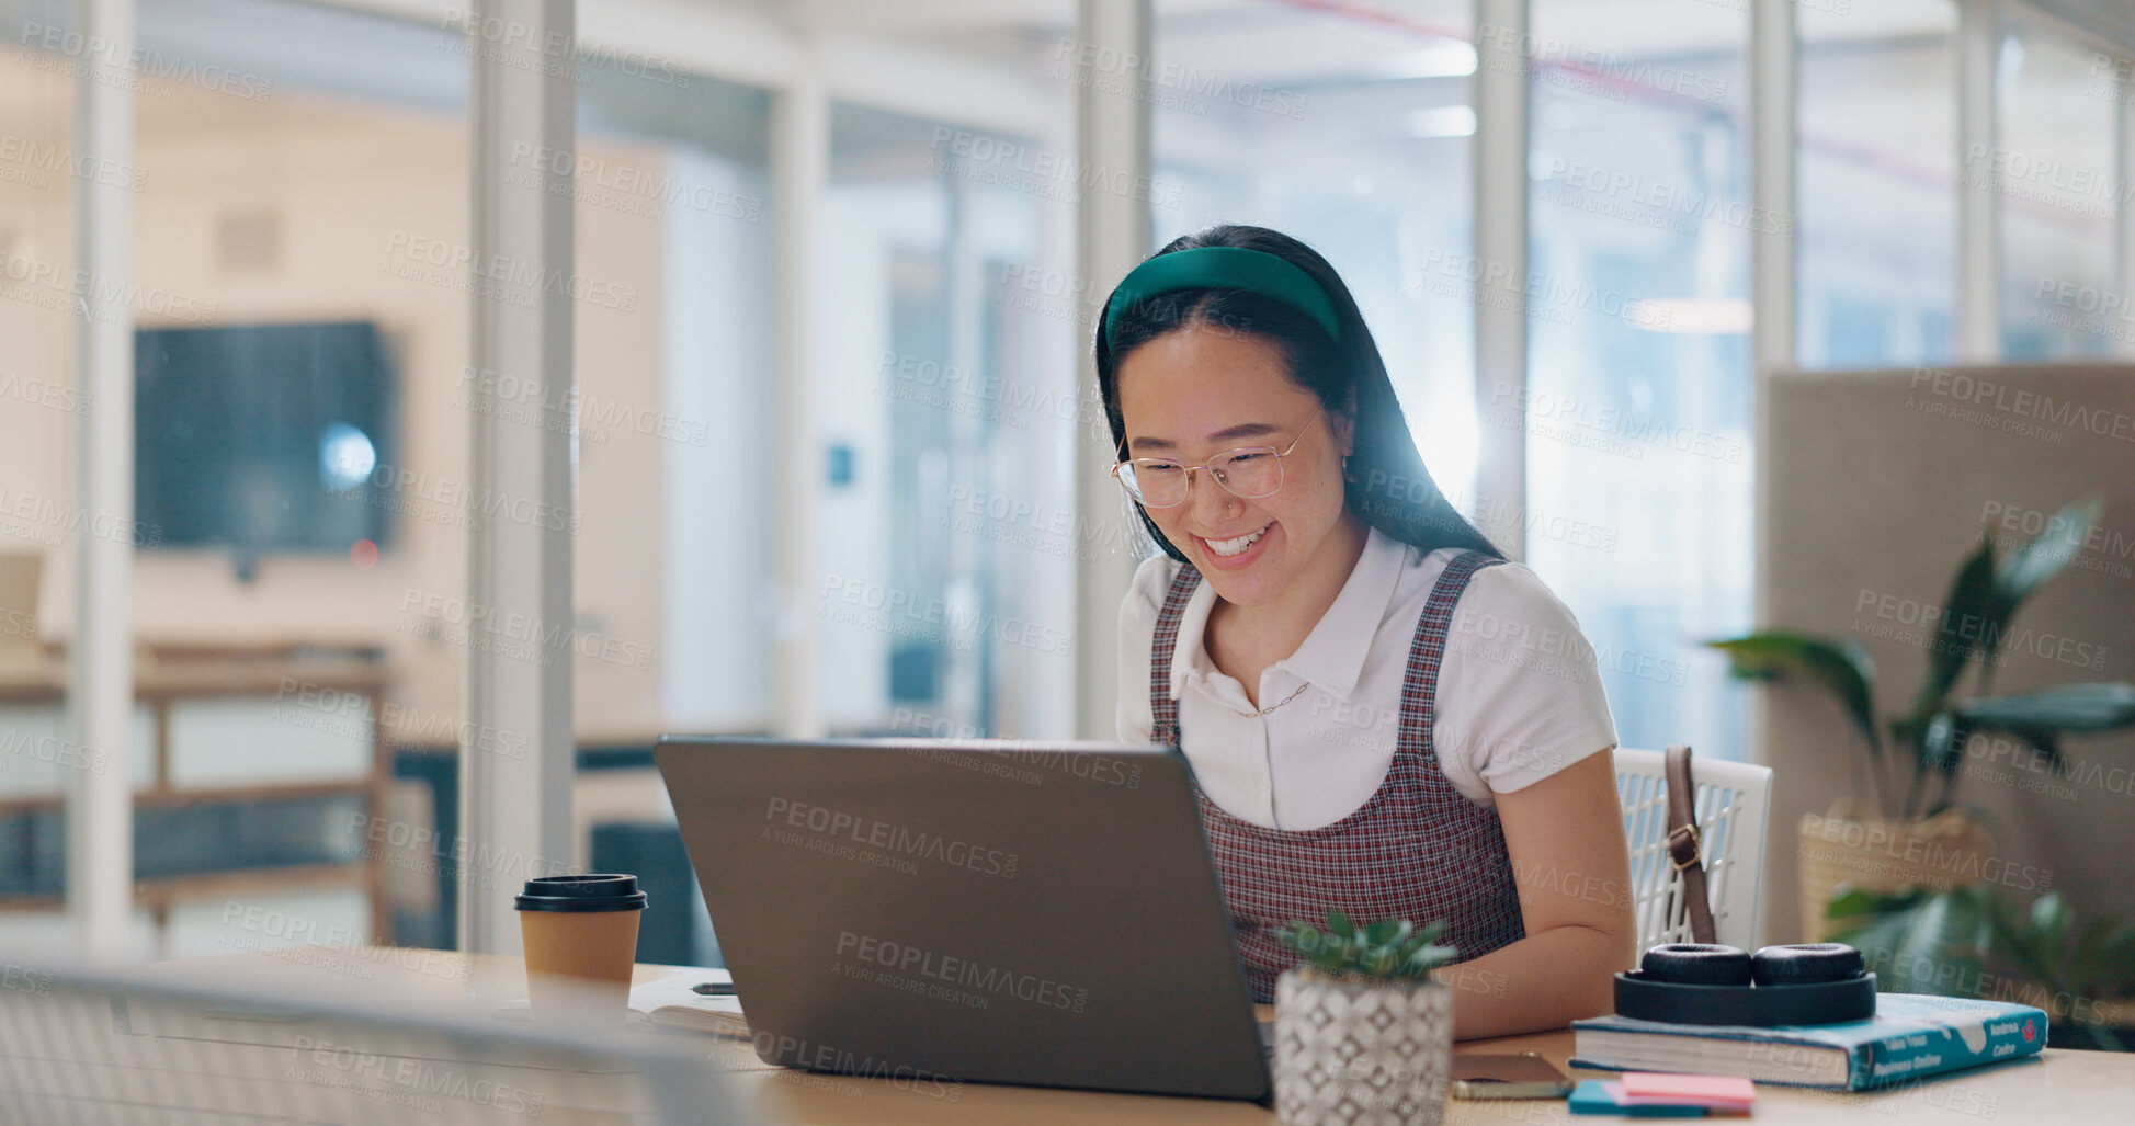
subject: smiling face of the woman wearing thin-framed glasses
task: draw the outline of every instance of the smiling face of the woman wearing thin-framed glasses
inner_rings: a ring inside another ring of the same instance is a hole
[[[1260,335],[1187,325],[1134,348],[1119,363],[1119,410],[1127,457],[1200,466],[1228,449],[1298,442],[1275,496],[1245,500],[1196,470],[1183,504],[1149,509],[1228,603],[1275,600],[1343,519],[1349,423],[1313,419],[1319,400],[1290,380],[1283,353]]]

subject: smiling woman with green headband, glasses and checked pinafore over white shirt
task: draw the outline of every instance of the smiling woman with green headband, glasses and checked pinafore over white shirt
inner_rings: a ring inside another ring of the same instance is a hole
[[[1097,331],[1114,476],[1164,549],[1119,735],[1185,752],[1255,1000],[1275,927],[1433,919],[1454,1034],[1610,1008],[1629,863],[1593,647],[1430,483],[1356,299],[1258,226],[1172,241]]]

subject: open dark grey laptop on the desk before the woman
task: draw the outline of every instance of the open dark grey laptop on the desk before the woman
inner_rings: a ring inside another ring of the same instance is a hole
[[[653,756],[764,1062],[1270,1100],[1183,756],[679,737]]]

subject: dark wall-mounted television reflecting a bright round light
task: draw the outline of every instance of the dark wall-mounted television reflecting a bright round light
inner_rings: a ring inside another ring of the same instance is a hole
[[[395,378],[369,320],[135,333],[135,519],[160,549],[350,553],[393,536]],[[371,556],[376,558],[376,556]]]

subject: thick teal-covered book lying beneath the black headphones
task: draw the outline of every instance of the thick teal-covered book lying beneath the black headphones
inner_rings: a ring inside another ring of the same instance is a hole
[[[1571,1021],[1571,1066],[1740,1075],[1757,1083],[1866,1090],[2045,1047],[2045,1013],[1998,1000],[1879,994],[1866,1021],[1746,1028],[1631,1017]]]

